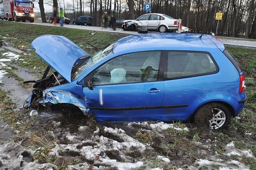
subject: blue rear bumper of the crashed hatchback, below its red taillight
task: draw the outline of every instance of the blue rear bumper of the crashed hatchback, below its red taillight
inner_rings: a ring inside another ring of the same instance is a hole
[[[234,116],[237,116],[245,106],[246,95],[245,91],[236,95],[228,104],[234,109]]]

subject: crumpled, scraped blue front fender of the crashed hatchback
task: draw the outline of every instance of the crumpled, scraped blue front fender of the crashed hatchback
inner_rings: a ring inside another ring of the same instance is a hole
[[[73,93],[62,90],[44,90],[43,98],[39,101],[42,105],[57,104],[57,103],[70,103],[81,109],[84,113],[87,112],[86,107],[87,99],[81,98]]]

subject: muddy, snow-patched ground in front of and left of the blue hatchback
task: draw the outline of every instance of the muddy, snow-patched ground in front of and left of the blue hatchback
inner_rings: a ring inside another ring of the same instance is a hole
[[[17,65],[20,59],[4,62],[1,70],[18,68],[12,69],[18,77],[37,80]],[[10,97],[13,105],[5,108],[8,100],[0,108],[0,169],[256,168],[250,163],[256,161],[255,136],[234,126],[212,131],[180,122],[95,122],[92,115],[50,107],[29,116],[20,107],[32,88],[8,73],[1,81],[2,101]]]

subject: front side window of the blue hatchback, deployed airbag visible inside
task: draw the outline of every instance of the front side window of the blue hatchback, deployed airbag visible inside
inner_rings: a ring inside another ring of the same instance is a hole
[[[147,51],[115,57],[93,72],[93,85],[156,81],[160,56]]]

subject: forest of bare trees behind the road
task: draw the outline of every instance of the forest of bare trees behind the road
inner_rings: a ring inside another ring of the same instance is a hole
[[[34,0],[39,4],[42,21],[46,22],[44,3],[62,6],[71,20],[81,15],[93,17],[94,26],[100,26],[102,11],[116,11],[117,19],[136,19],[151,4],[150,13],[162,13],[182,19],[182,25],[196,32],[256,39],[255,0]],[[216,12],[222,12],[218,32]]]

